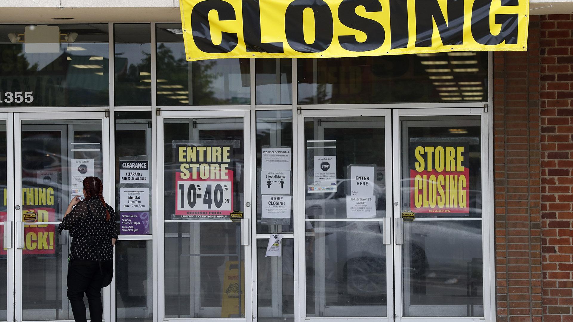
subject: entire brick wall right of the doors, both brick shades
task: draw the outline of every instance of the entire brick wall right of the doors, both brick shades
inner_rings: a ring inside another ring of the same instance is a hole
[[[573,322],[573,15],[494,53],[498,321]]]

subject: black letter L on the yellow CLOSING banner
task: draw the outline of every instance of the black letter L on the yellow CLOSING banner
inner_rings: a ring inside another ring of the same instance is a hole
[[[261,40],[261,7],[259,0],[243,0],[243,37],[247,52],[284,53],[282,42]]]

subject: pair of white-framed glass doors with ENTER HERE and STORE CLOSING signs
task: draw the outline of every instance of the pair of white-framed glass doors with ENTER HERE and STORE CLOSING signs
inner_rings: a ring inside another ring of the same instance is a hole
[[[301,318],[488,316],[484,124],[478,108],[301,112]]]

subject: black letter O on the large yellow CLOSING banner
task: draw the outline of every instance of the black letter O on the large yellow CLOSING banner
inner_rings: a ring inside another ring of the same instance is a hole
[[[303,11],[312,9],[315,15],[315,41],[307,44],[304,41]],[[324,52],[332,42],[332,11],[323,0],[295,0],[288,5],[285,12],[286,41],[299,53]]]

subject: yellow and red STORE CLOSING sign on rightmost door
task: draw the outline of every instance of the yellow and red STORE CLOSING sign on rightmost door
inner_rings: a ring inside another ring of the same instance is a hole
[[[411,143],[414,213],[469,213],[468,143]]]

